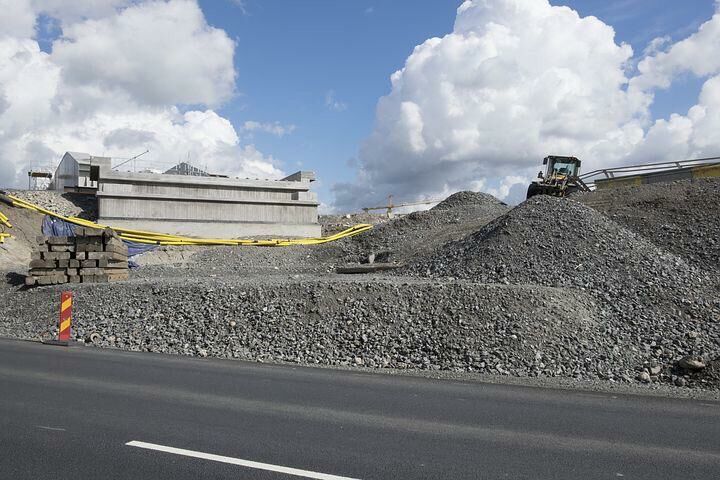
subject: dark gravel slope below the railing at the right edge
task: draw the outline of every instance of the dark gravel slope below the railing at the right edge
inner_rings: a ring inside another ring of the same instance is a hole
[[[720,179],[636,185],[573,198],[711,272],[720,266]]]

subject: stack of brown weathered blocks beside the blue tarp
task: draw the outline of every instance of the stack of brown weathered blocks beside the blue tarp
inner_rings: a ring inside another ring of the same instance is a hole
[[[127,280],[128,250],[114,230],[75,227],[74,237],[38,237],[26,285]]]

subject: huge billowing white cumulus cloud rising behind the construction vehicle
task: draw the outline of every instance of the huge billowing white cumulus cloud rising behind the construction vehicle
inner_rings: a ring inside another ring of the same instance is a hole
[[[592,168],[642,141],[650,96],[627,89],[633,52],[613,29],[547,0],[468,0],[453,32],[391,76],[343,208],[482,185],[507,196],[547,154]]]

